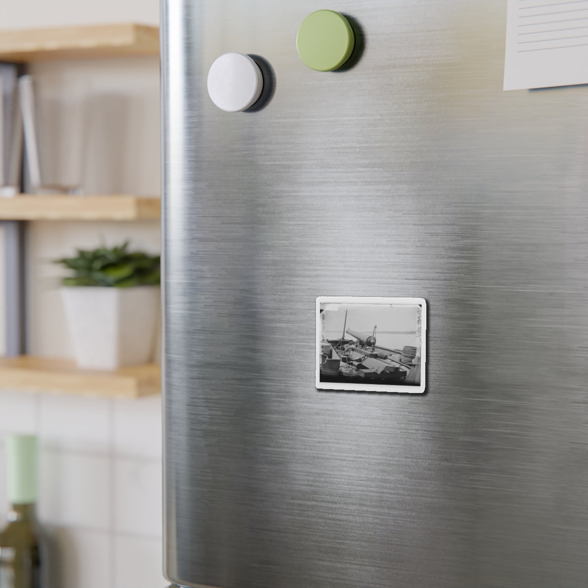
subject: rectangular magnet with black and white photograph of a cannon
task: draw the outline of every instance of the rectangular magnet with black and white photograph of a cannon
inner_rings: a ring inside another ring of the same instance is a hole
[[[425,391],[422,298],[316,299],[319,390]]]

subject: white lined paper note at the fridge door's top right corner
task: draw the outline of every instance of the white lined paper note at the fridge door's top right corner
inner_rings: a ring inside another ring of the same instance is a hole
[[[588,0],[508,0],[505,90],[588,83]]]

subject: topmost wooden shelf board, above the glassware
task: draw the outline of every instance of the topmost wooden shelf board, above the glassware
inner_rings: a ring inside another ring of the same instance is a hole
[[[1,61],[30,62],[158,54],[159,29],[156,26],[66,26],[4,30],[0,34]]]

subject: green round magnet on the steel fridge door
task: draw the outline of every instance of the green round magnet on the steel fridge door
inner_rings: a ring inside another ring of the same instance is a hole
[[[309,14],[298,29],[296,48],[300,59],[319,72],[339,69],[355,45],[351,25],[339,12],[318,10]]]

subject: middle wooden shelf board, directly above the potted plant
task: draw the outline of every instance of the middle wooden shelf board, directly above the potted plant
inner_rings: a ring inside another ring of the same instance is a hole
[[[0,198],[0,220],[146,220],[160,217],[159,198],[129,194]]]

